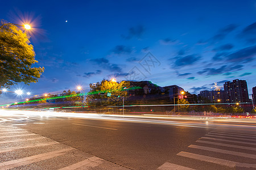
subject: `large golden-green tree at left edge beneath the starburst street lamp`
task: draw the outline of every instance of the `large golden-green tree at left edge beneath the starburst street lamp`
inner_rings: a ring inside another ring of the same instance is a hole
[[[2,22],[3,24],[3,22]],[[15,25],[5,25],[0,30],[0,88],[18,82],[38,82],[44,67],[32,67],[35,52],[30,36]]]

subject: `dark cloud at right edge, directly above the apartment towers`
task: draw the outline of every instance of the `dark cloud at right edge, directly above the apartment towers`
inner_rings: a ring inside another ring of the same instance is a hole
[[[240,63],[240,62],[252,61],[255,56],[256,56],[256,45],[240,49],[237,52],[234,52],[232,54],[229,54],[228,56],[225,56],[225,59],[228,62]]]

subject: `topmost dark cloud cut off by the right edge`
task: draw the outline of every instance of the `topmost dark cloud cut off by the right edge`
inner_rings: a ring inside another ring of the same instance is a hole
[[[245,27],[238,35],[241,39],[244,39],[247,44],[256,43],[256,22]]]

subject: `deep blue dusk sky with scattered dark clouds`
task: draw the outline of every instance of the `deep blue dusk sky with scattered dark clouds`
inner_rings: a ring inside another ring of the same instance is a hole
[[[103,78],[151,80],[198,94],[227,80],[256,86],[256,1],[5,1],[1,19],[30,20],[38,83],[33,95]],[[67,21],[67,22],[66,22]],[[136,76],[134,76],[136,74]],[[6,104],[27,96],[2,94]]]

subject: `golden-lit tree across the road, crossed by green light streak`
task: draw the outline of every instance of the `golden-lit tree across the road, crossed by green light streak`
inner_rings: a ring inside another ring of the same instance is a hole
[[[86,103],[90,106],[121,104],[122,97],[127,96],[125,87],[129,88],[130,82],[122,81],[119,83],[104,79],[101,82],[90,83]],[[107,96],[108,93],[111,93],[111,96]]]

